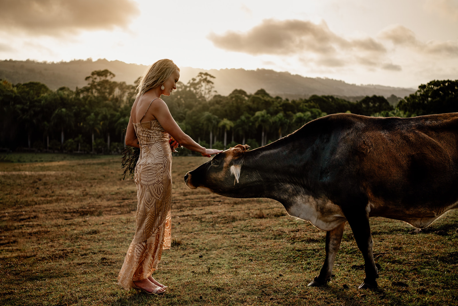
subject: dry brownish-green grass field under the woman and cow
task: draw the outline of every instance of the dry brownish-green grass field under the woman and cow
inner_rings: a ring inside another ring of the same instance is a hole
[[[173,160],[173,243],[154,274],[167,293],[127,292],[116,277],[136,187],[120,156],[36,157],[0,162],[0,305],[458,305],[458,212],[420,232],[372,218],[377,290],[357,289],[363,259],[347,225],[335,277],[309,288],[326,233],[273,200],[188,189],[184,174],[205,157]]]

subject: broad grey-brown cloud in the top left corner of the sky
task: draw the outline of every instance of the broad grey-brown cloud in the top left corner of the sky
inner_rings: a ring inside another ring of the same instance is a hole
[[[62,36],[126,27],[138,14],[132,0],[0,0],[0,29]]]

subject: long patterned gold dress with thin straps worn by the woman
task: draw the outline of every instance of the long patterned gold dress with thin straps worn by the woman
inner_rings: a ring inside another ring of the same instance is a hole
[[[169,136],[157,120],[134,123],[134,129],[140,143],[134,174],[136,231],[118,275],[118,284],[126,290],[131,289],[132,281],[148,278],[158,268],[162,250],[170,249],[171,242]]]

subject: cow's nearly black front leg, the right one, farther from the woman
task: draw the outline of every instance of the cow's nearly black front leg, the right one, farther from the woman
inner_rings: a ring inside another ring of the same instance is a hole
[[[350,211],[344,210],[348,224],[353,231],[354,240],[364,257],[364,270],[366,277],[359,289],[377,288],[378,271],[372,255],[372,236],[369,216],[364,208]]]

